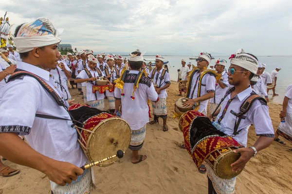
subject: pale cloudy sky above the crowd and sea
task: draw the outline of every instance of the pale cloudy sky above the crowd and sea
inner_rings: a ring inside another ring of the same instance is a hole
[[[292,55],[292,0],[0,0],[15,27],[48,17],[62,43],[94,52]]]

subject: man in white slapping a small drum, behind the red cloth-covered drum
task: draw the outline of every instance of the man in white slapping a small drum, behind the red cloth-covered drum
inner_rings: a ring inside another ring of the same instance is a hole
[[[189,98],[183,105],[184,107],[192,107],[195,103],[199,102],[199,112],[206,114],[208,101],[214,97],[216,79],[212,74],[205,75],[200,82],[201,73],[208,67],[211,62],[211,55],[205,52],[199,54],[199,58],[196,59],[199,70],[195,70],[190,74],[190,83],[187,88],[186,97]],[[201,91],[199,92],[199,85],[201,85]]]

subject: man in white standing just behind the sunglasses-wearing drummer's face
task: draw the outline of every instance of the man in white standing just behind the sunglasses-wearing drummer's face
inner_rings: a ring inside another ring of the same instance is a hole
[[[224,69],[227,62],[224,59],[218,58],[215,64],[216,71],[221,75],[221,79],[218,80],[215,88],[214,97],[210,99],[209,103],[209,112],[210,114],[214,113],[215,109],[220,103],[222,97],[224,97],[226,91],[228,90],[228,75]]]

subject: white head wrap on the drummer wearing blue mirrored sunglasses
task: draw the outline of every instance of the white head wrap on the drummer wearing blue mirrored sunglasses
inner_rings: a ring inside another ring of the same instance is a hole
[[[235,54],[230,57],[230,63],[245,68],[246,70],[256,74],[258,61],[255,57],[245,53],[243,49],[238,49]]]

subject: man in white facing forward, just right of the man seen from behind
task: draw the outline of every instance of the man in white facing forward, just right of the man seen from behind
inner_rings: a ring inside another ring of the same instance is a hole
[[[153,83],[156,84],[157,88],[155,90],[158,94],[158,101],[152,102],[154,119],[149,124],[152,125],[154,123],[159,123],[158,118],[161,117],[163,119],[163,131],[168,130],[166,124],[167,121],[166,88],[170,86],[169,73],[167,72],[166,69],[163,68],[163,65],[165,63],[166,60],[162,56],[156,55],[155,63],[156,68],[154,68],[148,75],[148,78],[150,78],[153,81]]]

